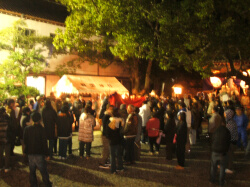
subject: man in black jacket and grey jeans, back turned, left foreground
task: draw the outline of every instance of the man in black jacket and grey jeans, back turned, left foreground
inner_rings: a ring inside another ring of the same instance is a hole
[[[41,125],[42,116],[38,112],[31,114],[33,125],[24,129],[24,153],[28,155],[30,185],[37,186],[36,168],[40,171],[45,186],[52,186],[47,171],[45,156],[49,155],[45,129]]]

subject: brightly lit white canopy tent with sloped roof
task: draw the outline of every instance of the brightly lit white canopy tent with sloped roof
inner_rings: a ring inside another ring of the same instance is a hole
[[[115,77],[63,75],[62,78],[52,88],[53,92],[59,96],[61,93],[67,94],[129,94],[129,91]]]

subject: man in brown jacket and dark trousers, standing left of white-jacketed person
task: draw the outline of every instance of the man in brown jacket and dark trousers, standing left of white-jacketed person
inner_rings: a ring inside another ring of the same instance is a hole
[[[134,142],[138,131],[138,117],[135,114],[135,107],[128,105],[128,118],[124,127],[124,139],[125,139],[125,161],[126,164],[134,164]]]

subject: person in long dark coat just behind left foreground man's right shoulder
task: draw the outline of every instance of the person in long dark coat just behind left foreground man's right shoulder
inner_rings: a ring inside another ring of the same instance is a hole
[[[49,140],[49,157],[51,159],[53,156],[53,148],[55,141],[55,124],[57,119],[56,111],[53,109],[51,105],[51,101],[46,99],[45,107],[42,110],[42,119],[46,132],[47,140]]]

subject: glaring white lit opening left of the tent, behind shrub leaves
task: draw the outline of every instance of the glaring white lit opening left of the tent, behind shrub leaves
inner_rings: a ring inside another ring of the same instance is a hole
[[[26,81],[27,86],[38,89],[40,94],[45,94],[45,78],[44,77],[28,76],[26,80],[27,80]]]

